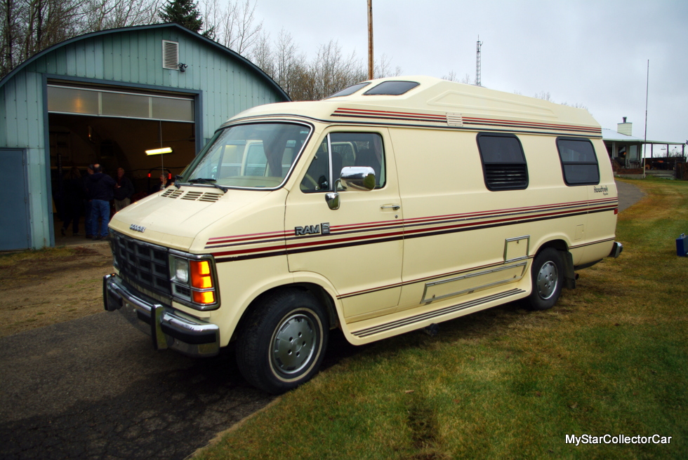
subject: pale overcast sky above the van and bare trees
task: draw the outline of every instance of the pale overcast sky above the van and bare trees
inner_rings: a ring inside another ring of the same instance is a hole
[[[312,59],[338,41],[367,62],[366,0],[255,0],[272,38],[292,34]],[[644,137],[649,60],[648,140],[688,139],[688,1],[373,0],[375,55],[402,75],[475,79],[482,86],[553,102],[583,104],[602,128],[627,116]]]

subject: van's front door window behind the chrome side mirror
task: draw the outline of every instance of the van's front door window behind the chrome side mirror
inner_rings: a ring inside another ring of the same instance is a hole
[[[329,148],[328,148],[329,145]],[[329,191],[347,166],[369,166],[375,171],[375,188],[385,187],[385,149],[378,133],[330,133],[300,184],[305,193]],[[333,180],[330,180],[333,177]]]

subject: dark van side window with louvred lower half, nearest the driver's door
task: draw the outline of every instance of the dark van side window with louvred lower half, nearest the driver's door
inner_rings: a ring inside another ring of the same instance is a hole
[[[477,142],[487,189],[522,190],[528,187],[528,165],[518,137],[480,133]]]

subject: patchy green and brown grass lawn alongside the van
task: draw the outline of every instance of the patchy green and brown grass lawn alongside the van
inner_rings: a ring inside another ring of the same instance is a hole
[[[629,181],[618,259],[549,311],[508,304],[365,347],[196,459],[687,459],[688,182]],[[566,443],[659,434],[669,444]]]

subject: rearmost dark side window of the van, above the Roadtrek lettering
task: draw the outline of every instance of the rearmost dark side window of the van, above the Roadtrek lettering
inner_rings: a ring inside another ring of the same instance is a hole
[[[557,139],[557,149],[567,185],[600,183],[600,168],[597,167],[597,155],[592,142],[560,137]]]

